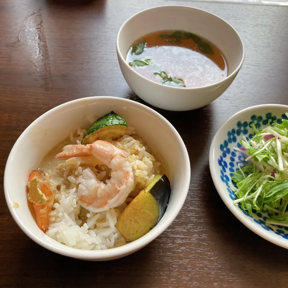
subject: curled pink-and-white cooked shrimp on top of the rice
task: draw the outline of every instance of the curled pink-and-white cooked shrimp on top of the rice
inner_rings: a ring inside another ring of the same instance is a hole
[[[84,147],[83,147],[84,146]],[[89,152],[88,152],[89,151]],[[123,204],[134,186],[134,176],[128,153],[110,142],[97,140],[88,145],[69,145],[55,156],[56,159],[93,155],[111,170],[111,179],[99,181],[91,169],[79,176],[79,204],[91,212],[101,212]]]

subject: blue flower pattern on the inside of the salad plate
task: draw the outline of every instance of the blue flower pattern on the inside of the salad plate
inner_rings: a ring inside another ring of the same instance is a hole
[[[227,132],[227,138],[223,139],[223,144],[220,144],[218,156],[218,164],[220,166],[220,179],[226,185],[227,193],[231,198],[231,201],[236,199],[234,192],[229,188],[229,183],[232,183],[231,177],[233,176],[233,172],[238,170],[238,164],[241,166],[246,164],[246,156],[244,153],[236,152],[233,147],[241,147],[239,141],[243,136],[245,136],[247,140],[252,138],[254,135],[254,131],[250,127],[252,123],[255,124],[257,129],[259,129],[262,125],[267,126],[268,123],[272,124],[277,122],[278,124],[281,124],[282,119],[288,120],[285,114],[277,116],[272,115],[272,113],[267,113],[265,114],[265,117],[261,115],[252,115],[250,117],[250,121],[238,121],[235,125],[235,128]],[[238,207],[241,209],[241,205],[239,203]],[[251,218],[255,223],[259,224],[263,229],[267,231],[274,231],[275,234],[279,235],[279,237],[283,237],[288,240],[288,227],[265,224],[265,220],[272,216],[272,214],[267,209],[262,209],[262,211],[254,210],[252,212],[253,214],[251,215]],[[243,213],[247,215],[247,217],[250,217],[247,211],[243,211]]]

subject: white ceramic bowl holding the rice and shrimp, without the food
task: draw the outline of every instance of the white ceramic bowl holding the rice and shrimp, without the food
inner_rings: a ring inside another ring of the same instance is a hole
[[[70,129],[89,127],[88,119],[111,111],[135,127],[164,165],[171,182],[167,210],[146,235],[121,247],[85,251],[58,243],[37,226],[27,204],[26,182],[49,150],[68,137]],[[65,255],[85,260],[110,260],[131,254],[160,235],[175,219],[185,201],[190,184],[190,162],[186,147],[175,128],[159,113],[143,104],[116,97],[90,97],[64,103],[36,119],[12,148],[4,174],[4,191],[9,210],[19,227],[36,243]],[[19,208],[12,208],[12,201]]]

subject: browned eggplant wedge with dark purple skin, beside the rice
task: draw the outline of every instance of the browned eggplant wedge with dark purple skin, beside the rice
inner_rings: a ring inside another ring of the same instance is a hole
[[[167,176],[157,175],[130,202],[116,223],[116,228],[126,242],[137,240],[158,223],[167,208],[170,192]]]

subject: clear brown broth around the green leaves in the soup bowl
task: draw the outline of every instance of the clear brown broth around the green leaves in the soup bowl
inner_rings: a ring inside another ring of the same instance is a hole
[[[228,69],[226,59],[220,49],[201,37],[207,43],[213,54],[203,53],[193,39],[181,39],[179,43],[171,43],[159,35],[170,35],[174,31],[158,31],[139,38],[134,45],[138,46],[146,41],[146,46],[140,55],[131,53],[132,46],[128,51],[126,62],[134,60],[152,59],[149,65],[132,68],[147,79],[175,87],[196,88],[211,85],[225,79]],[[168,76],[180,79],[184,85],[173,81],[163,83],[163,74],[155,75],[164,71]]]

